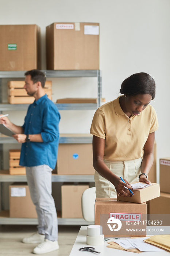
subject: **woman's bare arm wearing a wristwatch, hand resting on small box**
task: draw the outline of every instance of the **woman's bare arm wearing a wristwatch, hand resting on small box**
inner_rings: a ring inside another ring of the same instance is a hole
[[[155,132],[149,133],[146,143],[144,144],[144,154],[141,167],[141,173],[146,173],[148,175],[153,161],[154,161],[154,141],[155,141]],[[150,180],[146,178],[144,174],[140,176],[140,182],[149,183]]]

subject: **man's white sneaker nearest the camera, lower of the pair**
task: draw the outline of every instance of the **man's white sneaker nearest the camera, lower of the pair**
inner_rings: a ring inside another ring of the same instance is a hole
[[[59,249],[58,241],[50,241],[45,239],[44,242],[36,246],[33,250],[35,254],[43,254],[47,252],[53,252]]]

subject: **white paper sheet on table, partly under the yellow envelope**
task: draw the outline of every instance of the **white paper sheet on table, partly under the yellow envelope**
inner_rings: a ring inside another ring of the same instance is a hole
[[[143,241],[144,239],[146,239],[146,237],[142,237],[142,238],[135,238],[135,239],[128,239],[127,241],[133,245],[135,248],[137,248],[138,250],[142,251],[142,252],[150,252],[150,251],[165,251],[161,248],[158,248],[154,245],[151,244],[147,244],[150,246],[146,246],[146,243]]]

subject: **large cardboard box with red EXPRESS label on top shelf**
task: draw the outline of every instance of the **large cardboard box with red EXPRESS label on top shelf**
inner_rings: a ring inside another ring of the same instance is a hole
[[[99,69],[99,23],[55,22],[46,27],[47,69]]]

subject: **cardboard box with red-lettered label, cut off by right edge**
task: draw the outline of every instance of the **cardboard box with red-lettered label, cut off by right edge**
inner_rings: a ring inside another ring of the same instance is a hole
[[[170,157],[160,159],[160,190],[170,193]]]

